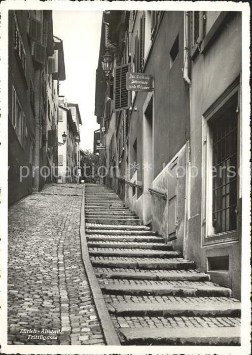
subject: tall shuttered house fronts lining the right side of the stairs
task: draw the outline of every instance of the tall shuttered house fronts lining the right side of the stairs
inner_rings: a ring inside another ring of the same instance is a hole
[[[113,58],[107,77],[105,53]],[[128,90],[127,73],[151,75],[153,90]],[[103,12],[95,93],[101,182],[237,297],[240,73],[239,13]],[[226,173],[216,177],[210,167]]]

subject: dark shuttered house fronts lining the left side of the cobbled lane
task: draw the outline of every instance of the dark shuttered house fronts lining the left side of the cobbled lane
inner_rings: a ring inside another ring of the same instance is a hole
[[[8,184],[12,204],[54,179],[58,83],[65,74],[62,41],[53,37],[51,10],[10,10],[8,35]]]

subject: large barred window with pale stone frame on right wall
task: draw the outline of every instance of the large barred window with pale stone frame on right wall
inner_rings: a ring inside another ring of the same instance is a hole
[[[202,245],[239,237],[238,83],[237,79],[203,115]]]

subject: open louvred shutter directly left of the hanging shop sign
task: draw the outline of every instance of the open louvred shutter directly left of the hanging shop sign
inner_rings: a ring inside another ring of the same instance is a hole
[[[129,64],[115,68],[114,78],[114,110],[122,111],[130,107],[129,91],[126,89],[126,74],[129,72]]]

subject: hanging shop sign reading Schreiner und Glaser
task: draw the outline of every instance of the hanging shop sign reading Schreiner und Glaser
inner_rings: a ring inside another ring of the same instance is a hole
[[[153,91],[153,75],[145,73],[127,73],[126,88],[132,91]]]

